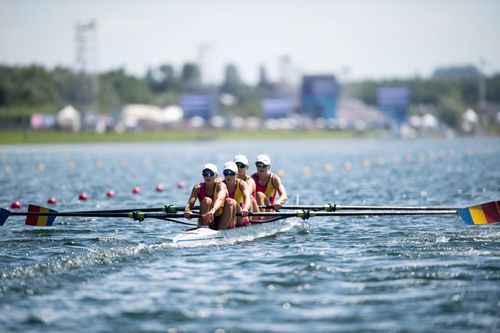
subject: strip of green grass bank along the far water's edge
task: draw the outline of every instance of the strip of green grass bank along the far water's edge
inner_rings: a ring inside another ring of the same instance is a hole
[[[201,140],[247,140],[247,139],[338,139],[360,137],[382,137],[384,131],[367,130],[164,130],[127,133],[62,132],[4,130],[0,132],[0,145],[10,144],[50,144],[50,143],[85,143],[85,142],[178,142]]]

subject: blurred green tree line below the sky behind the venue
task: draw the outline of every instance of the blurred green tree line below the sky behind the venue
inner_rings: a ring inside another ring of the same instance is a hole
[[[143,77],[115,69],[92,76],[56,67],[39,65],[0,66],[0,124],[2,127],[25,127],[33,113],[53,113],[72,104],[79,110],[109,112],[125,104],[175,104],[184,93],[230,94],[235,103],[222,105],[223,114],[244,117],[260,116],[260,100],[278,97],[279,85],[269,82],[265,68],[260,69],[256,85],[240,79],[235,65],[225,69],[220,85],[203,86],[197,65],[184,64],[180,70],[165,64],[151,68]],[[412,106],[426,105],[451,127],[458,127],[467,108],[479,110],[480,80],[476,73],[441,75],[431,78],[367,80],[343,85],[342,94],[376,106],[379,87],[408,87]],[[484,79],[485,100],[500,103],[500,74]]]

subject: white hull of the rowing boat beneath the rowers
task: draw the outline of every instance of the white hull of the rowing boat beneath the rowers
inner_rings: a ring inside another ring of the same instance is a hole
[[[174,236],[172,243],[177,247],[232,245],[286,232],[298,224],[300,224],[299,219],[291,218],[264,223],[251,223],[248,226],[226,230],[213,230],[207,227],[192,228]]]

